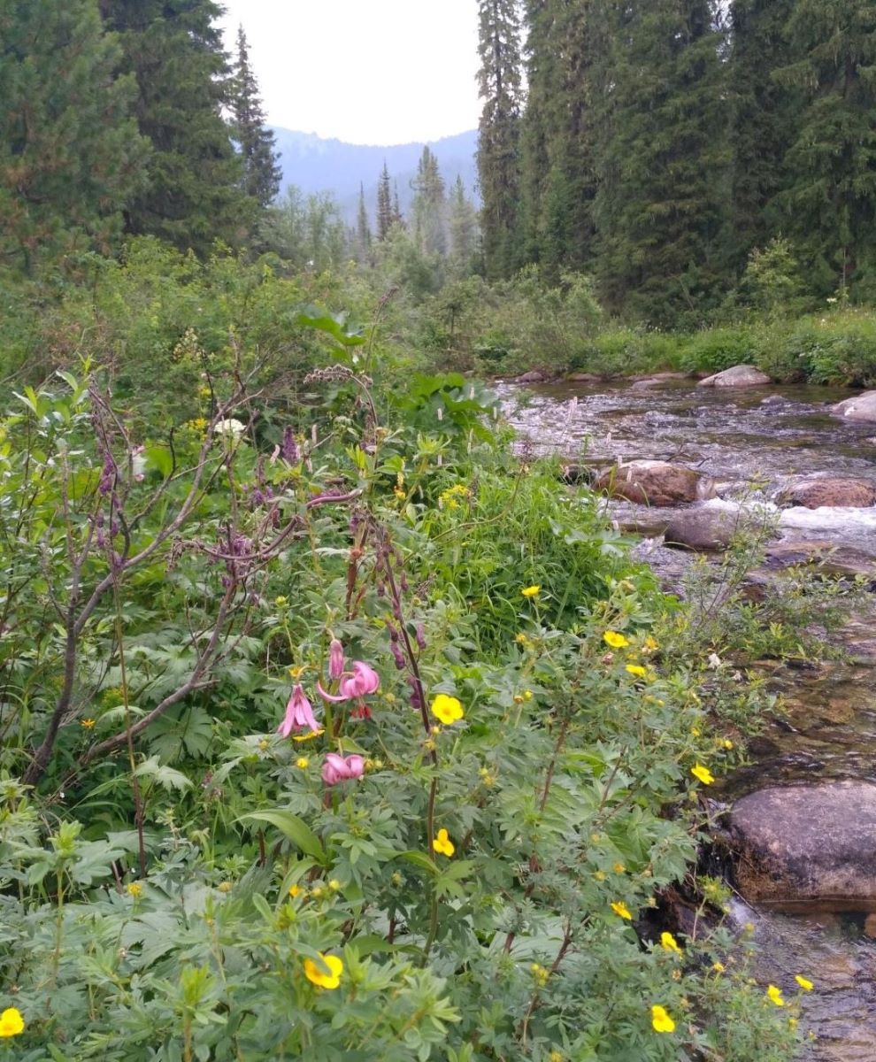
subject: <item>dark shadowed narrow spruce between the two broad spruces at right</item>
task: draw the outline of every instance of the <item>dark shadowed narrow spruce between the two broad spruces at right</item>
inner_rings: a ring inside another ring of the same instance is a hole
[[[802,90],[775,71],[791,61],[787,24],[794,0],[735,0],[727,64],[731,224],[727,263],[737,275],[751,252],[781,228],[775,198],[785,185],[784,158],[800,122]]]

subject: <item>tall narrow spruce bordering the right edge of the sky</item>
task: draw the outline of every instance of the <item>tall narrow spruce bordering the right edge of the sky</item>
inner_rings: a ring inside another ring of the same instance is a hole
[[[519,263],[521,57],[515,0],[478,0],[478,176],[487,276],[509,276]]]

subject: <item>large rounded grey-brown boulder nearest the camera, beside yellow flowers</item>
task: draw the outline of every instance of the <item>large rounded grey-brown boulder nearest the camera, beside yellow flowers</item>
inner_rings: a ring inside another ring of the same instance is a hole
[[[829,782],[761,789],[737,801],[736,884],[787,911],[876,911],[876,786]]]

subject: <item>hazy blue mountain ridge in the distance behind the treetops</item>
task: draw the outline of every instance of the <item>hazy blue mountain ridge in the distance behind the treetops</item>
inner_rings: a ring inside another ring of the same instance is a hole
[[[398,187],[401,212],[408,212],[413,194],[411,181],[416,175],[416,165],[426,144],[437,156],[447,187],[460,175],[468,198],[478,201],[475,161],[477,130],[442,137],[440,140],[391,147],[346,143],[343,140],[324,139],[315,133],[297,133],[277,126],[272,132],[282,168],[281,191],[289,185],[296,185],[305,193],[331,192],[350,224],[356,220],[360,183],[364,186],[365,205],[374,223],[377,182],[384,160],[391,179]]]

